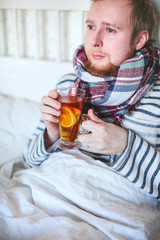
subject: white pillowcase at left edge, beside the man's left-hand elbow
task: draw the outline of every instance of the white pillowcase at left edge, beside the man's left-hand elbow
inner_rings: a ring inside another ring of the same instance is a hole
[[[22,155],[41,117],[39,103],[0,94],[0,166]]]

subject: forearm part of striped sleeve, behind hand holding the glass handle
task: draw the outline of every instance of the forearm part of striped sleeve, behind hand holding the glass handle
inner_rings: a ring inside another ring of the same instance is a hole
[[[160,152],[128,131],[125,151],[111,165],[125,178],[160,199]]]

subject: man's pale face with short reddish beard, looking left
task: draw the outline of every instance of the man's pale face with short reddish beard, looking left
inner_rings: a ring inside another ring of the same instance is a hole
[[[85,51],[89,60],[86,69],[99,73],[120,66],[134,55],[131,47],[132,27],[129,22],[132,7],[127,0],[93,2],[86,21]],[[113,70],[114,71],[114,70]],[[93,73],[93,75],[96,75]],[[103,74],[102,74],[103,75]],[[105,74],[104,74],[105,75]]]

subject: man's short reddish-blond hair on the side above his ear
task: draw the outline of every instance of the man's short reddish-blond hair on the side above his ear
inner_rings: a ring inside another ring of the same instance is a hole
[[[97,2],[105,0],[91,0],[91,1]],[[148,31],[150,39],[155,24],[155,10],[150,0],[127,0],[127,1],[133,7],[130,16],[130,23],[133,28],[131,43],[134,41],[135,37],[143,30]]]

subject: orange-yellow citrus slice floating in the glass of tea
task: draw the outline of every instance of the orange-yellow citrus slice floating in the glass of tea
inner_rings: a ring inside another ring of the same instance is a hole
[[[68,106],[62,106],[59,123],[62,127],[72,127],[77,122],[76,116]]]

